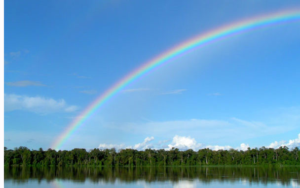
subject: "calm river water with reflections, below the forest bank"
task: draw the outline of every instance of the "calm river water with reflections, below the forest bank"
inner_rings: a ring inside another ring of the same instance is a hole
[[[300,188],[300,167],[5,167],[4,187]]]

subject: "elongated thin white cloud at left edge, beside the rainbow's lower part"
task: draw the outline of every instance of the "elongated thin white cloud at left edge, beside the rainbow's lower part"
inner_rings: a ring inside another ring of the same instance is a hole
[[[55,100],[40,96],[4,94],[4,111],[27,110],[46,114],[53,112],[72,112],[78,107],[68,105],[64,99]]]

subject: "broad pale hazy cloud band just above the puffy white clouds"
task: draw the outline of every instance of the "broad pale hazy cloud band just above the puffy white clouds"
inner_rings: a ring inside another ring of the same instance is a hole
[[[280,125],[277,125],[277,124]],[[230,118],[225,120],[213,119],[189,119],[174,121],[147,121],[147,122],[127,122],[127,123],[108,123],[106,126],[115,128],[123,132],[155,135],[159,137],[170,137],[175,134],[184,134],[201,138],[214,143],[216,139],[220,142],[242,142],[246,139],[254,139],[266,135],[273,135],[291,131],[299,125],[300,121],[290,122],[281,121],[276,124],[246,121],[238,118]],[[285,124],[286,126],[282,126]],[[264,143],[267,145],[268,143]]]

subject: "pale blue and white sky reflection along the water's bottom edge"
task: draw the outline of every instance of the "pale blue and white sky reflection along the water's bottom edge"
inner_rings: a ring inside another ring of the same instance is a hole
[[[213,180],[210,182],[200,181],[198,179],[182,179],[177,182],[170,180],[163,182],[146,182],[143,180],[124,182],[116,180],[114,183],[99,181],[97,183],[89,180],[85,182],[60,180],[55,179],[53,181],[46,180],[4,180],[5,188],[300,188],[299,180],[291,179],[290,182],[283,184],[279,181],[268,182],[267,184],[262,182],[249,182],[246,179],[218,181]]]

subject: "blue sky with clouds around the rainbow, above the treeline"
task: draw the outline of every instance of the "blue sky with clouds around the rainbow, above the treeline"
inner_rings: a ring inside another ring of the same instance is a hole
[[[4,146],[51,148],[155,56],[298,0],[4,1]],[[300,147],[300,21],[243,32],[151,70],[60,149]],[[53,149],[53,148],[52,148]]]

